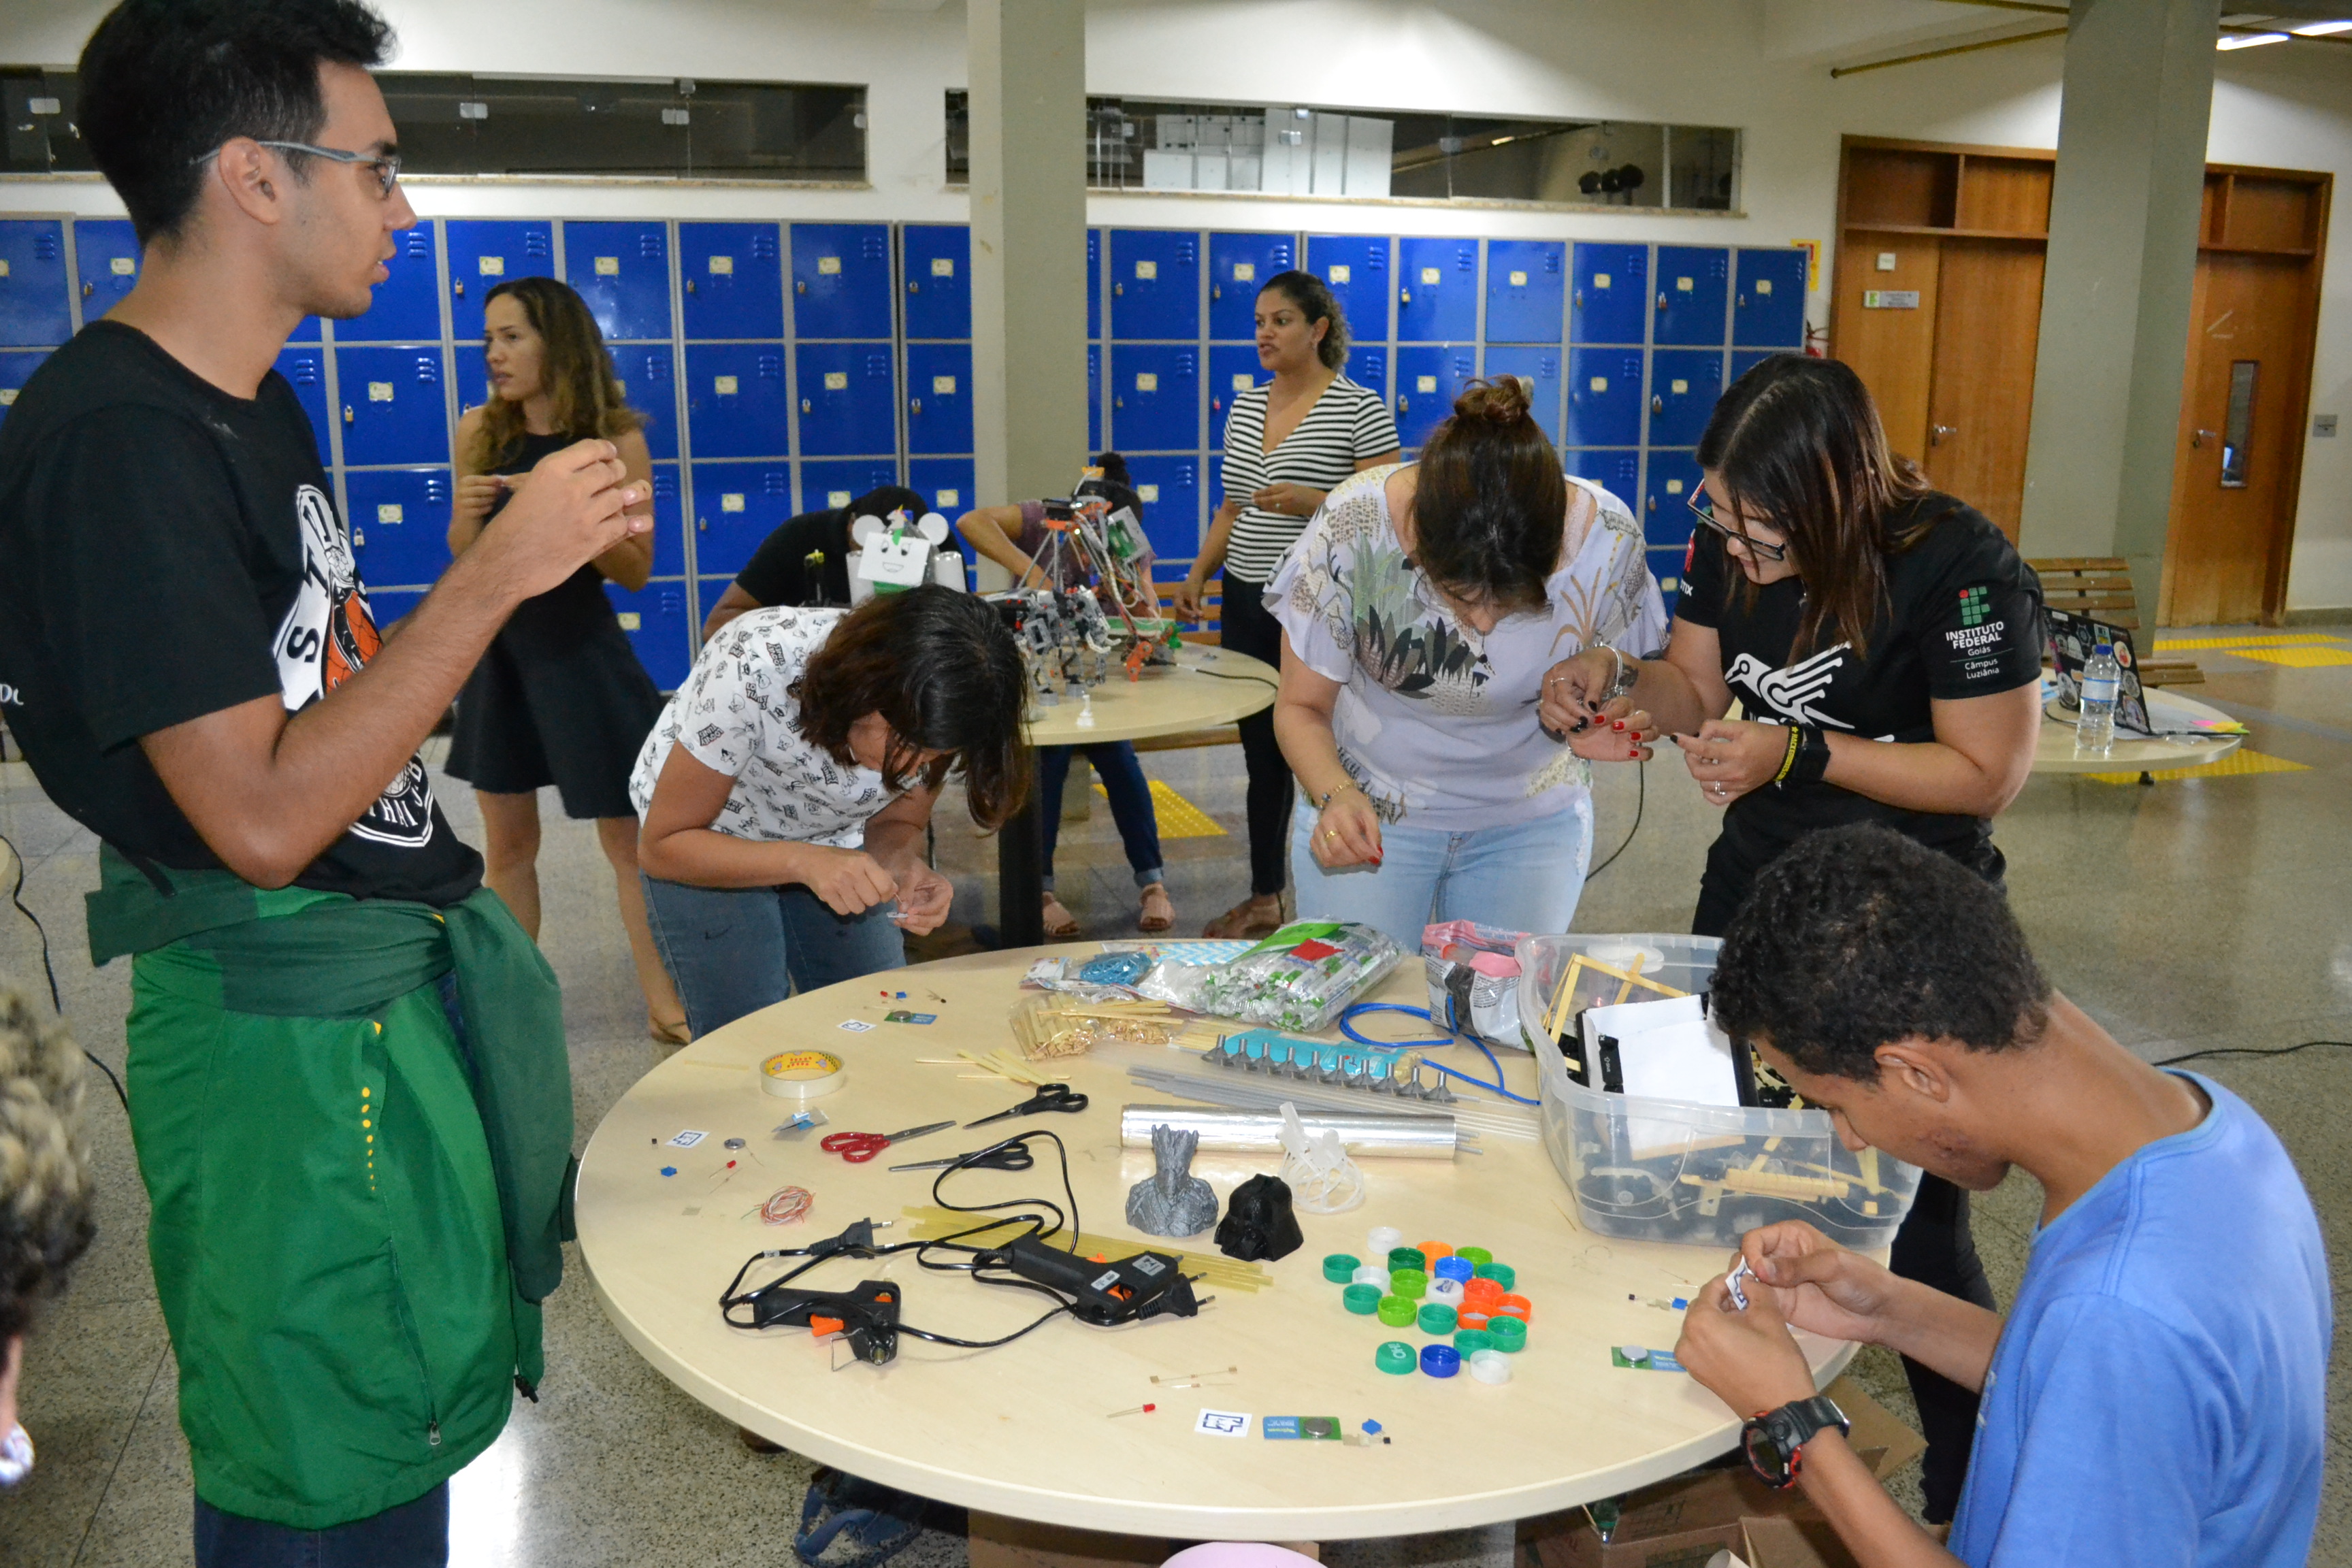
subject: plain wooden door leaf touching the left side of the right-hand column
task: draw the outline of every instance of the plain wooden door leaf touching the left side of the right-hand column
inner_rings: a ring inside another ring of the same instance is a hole
[[[1924,465],[2011,543],[2025,505],[2042,252],[2030,240],[1945,240],[1936,294]]]

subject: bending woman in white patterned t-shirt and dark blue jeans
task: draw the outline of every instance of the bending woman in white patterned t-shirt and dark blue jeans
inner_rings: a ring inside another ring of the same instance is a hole
[[[950,769],[974,820],[1028,788],[1028,677],[995,609],[953,588],[858,609],[755,609],[703,646],[637,755],[644,907],[701,1037],[793,987],[906,964],[955,889],[924,863]]]

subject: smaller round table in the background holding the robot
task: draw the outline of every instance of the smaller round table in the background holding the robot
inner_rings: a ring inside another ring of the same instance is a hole
[[[1115,672],[1101,686],[1051,705],[1030,701],[1030,745],[1148,741],[1232,724],[1272,705],[1279,670],[1230,649],[1178,646],[1176,665]],[[997,832],[997,929],[1004,947],[1044,940],[1044,818],[1037,795]]]

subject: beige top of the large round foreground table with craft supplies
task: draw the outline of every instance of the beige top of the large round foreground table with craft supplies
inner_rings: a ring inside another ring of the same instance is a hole
[[[1068,945],[1058,952],[1091,952]],[[1185,1540],[1348,1540],[1524,1519],[1682,1472],[1724,1453],[1738,1418],[1682,1373],[1623,1371],[1611,1345],[1670,1349],[1689,1295],[1724,1267],[1715,1248],[1604,1241],[1573,1222],[1573,1204],[1543,1145],[1484,1135],[1484,1154],[1451,1164],[1362,1159],[1369,1197],[1341,1215],[1301,1215],[1305,1246],[1265,1267],[1268,1286],[1202,1286],[1216,1300],[1195,1319],[1089,1328],[1070,1319],[997,1349],[948,1349],[901,1338],[889,1366],[830,1371],[830,1345],[807,1331],[746,1331],[720,1321],[720,1291],[769,1246],[807,1246],[858,1218],[901,1220],[931,1204],[934,1173],[891,1173],[906,1159],[985,1147],[1014,1128],[1049,1128],[1070,1150],[1080,1218],[1098,1237],[1138,1237],[1124,1222],[1127,1190],[1150,1175],[1148,1150],[1120,1147],[1120,1107],[1167,1103],[1138,1091],[1127,1065],[1183,1065],[1176,1048],[1117,1046],[1068,1063],[1082,1114],[946,1131],[889,1150],[868,1166],[823,1154],[814,1138],[779,1143],[790,1103],[760,1091],[757,1063],[781,1048],[821,1046],[849,1063],[847,1084],[816,1100],[830,1131],[889,1133],[1000,1112],[1030,1091],[974,1081],[957,1067],[917,1065],[957,1048],[1011,1048],[1007,1011],[1018,976],[1042,952],[943,959],[795,997],[694,1041],[654,1067],[595,1131],[581,1157],[579,1241],[604,1312],[647,1361],[694,1399],[811,1460],[873,1481],[1014,1519]],[[880,992],[908,992],[906,1001]],[[943,997],[946,1001],[934,1001]],[[1381,997],[1425,1001],[1418,964]],[[934,1025],[882,1023],[889,1006],[936,1013]],[[873,1023],[849,1032],[844,1020]],[[1411,1023],[1411,1020],[1397,1020]],[[1468,1060],[1454,1060],[1468,1058]],[[1435,1060],[1482,1070],[1465,1046]],[[1534,1063],[1505,1051],[1505,1081],[1534,1093]],[[976,1072],[967,1067],[964,1072]],[[1494,1105],[1463,1091],[1465,1100]],[[706,1138],[689,1147],[666,1140]],[[821,1135],[821,1133],[818,1133]],[[750,1140],[727,1152],[727,1138]],[[950,1178],[957,1204],[1061,1197],[1049,1143],[1021,1173]],[[755,1157],[755,1159],[750,1159]],[[724,1161],[736,1159],[736,1175]],[[663,1175],[663,1166],[675,1175]],[[1202,1154],[1218,1204],[1277,1157]],[[802,1225],[767,1227],[760,1204],[783,1185],[814,1194]],[[1327,1253],[1367,1255],[1371,1227],[1406,1244],[1484,1246],[1517,1269],[1531,1300],[1526,1352],[1508,1385],[1374,1366],[1383,1340],[1418,1352],[1418,1328],[1352,1316],[1327,1284]],[[1141,1239],[1141,1237],[1138,1237]],[[1155,1246],[1214,1253],[1204,1232]],[[755,1272],[769,1279],[783,1265]],[[913,1253],[811,1269],[804,1284],[903,1284],[903,1321],[985,1340],[1037,1316],[1040,1298],[924,1272]],[[1799,1335],[1820,1382],[1851,1356],[1835,1340]],[[1152,1375],[1240,1368],[1216,1387],[1167,1389]],[[1148,1415],[1112,1415],[1157,1403]],[[1390,1446],[1268,1441],[1195,1434],[1204,1408],[1265,1415],[1336,1415],[1348,1432],[1371,1418]]]

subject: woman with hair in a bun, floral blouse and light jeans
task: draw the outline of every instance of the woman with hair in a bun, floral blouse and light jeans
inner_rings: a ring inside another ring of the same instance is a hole
[[[1653,731],[1628,712],[1562,733],[1536,708],[1585,649],[1630,665],[1663,646],[1665,602],[1642,527],[1562,475],[1526,390],[1470,383],[1418,463],[1334,489],[1265,602],[1275,733],[1315,806],[1291,827],[1298,917],[1378,926],[1406,952],[1444,919],[1566,931],[1590,762],[1649,757]]]

